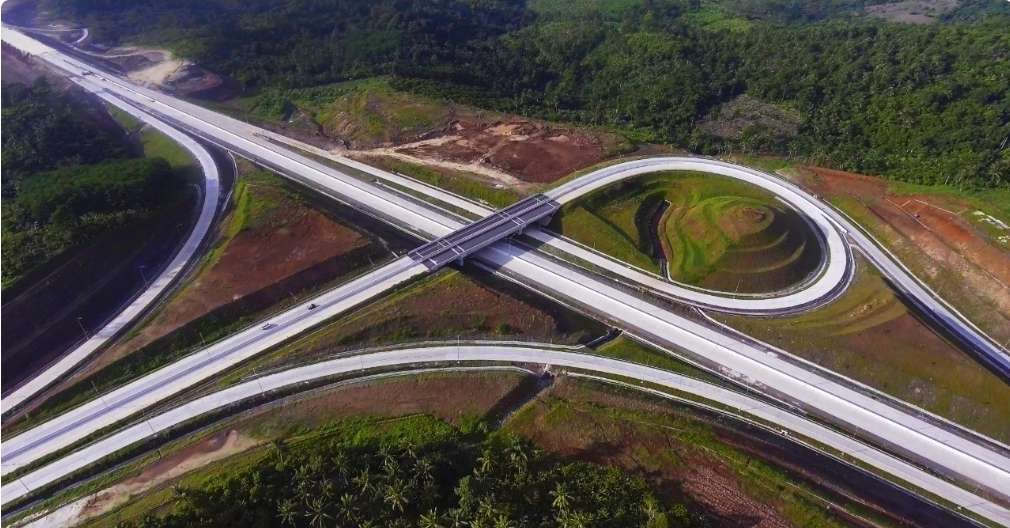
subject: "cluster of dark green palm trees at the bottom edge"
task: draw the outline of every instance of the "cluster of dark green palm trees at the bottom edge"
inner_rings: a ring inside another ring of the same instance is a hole
[[[708,526],[614,466],[423,416],[393,423],[394,431],[341,423],[327,439],[275,444],[241,470],[177,487],[172,513],[120,526]]]

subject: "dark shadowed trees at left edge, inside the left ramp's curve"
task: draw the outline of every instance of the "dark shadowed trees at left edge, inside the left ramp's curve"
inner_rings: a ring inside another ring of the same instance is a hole
[[[3,87],[3,284],[149,217],[181,188],[161,159],[131,157],[124,132],[44,78]]]

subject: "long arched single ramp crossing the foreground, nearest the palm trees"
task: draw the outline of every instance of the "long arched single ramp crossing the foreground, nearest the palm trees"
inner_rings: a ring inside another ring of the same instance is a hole
[[[27,490],[44,487],[135,442],[170,430],[187,420],[271,391],[297,387],[299,384],[326,380],[341,375],[359,375],[372,368],[404,368],[476,361],[549,364],[576,368],[580,372],[640,380],[666,389],[701,397],[709,402],[739,409],[744,415],[777,424],[788,429],[792,435],[815,440],[881,471],[896,476],[919,489],[943,497],[985,518],[1003,524],[1010,523],[1010,511],[1005,507],[980,498],[930,474],[928,471],[803,416],[789,413],[752,397],[667,371],[597,355],[562,351],[546,345],[468,344],[405,348],[345,356],[264,376],[204,396],[124,428],[14,482],[5,483],[0,494],[3,495],[5,502],[14,500],[25,495]]]

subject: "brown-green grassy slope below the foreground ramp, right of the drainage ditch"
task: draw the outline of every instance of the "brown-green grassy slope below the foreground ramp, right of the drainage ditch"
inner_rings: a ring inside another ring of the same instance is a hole
[[[538,405],[524,407],[505,428],[530,435],[548,449],[574,450],[590,457],[594,446],[600,446],[606,451],[601,456],[612,463],[669,483],[680,484],[695,467],[713,467],[719,474],[729,473],[730,486],[773,507],[796,526],[842,526],[824,513],[823,499],[814,488],[727,444],[686,408],[645,412],[615,403],[613,394],[623,391],[571,383],[540,398]],[[637,394],[628,396],[652,401]]]

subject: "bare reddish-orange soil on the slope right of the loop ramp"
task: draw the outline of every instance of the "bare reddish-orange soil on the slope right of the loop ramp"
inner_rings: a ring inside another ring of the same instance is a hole
[[[997,340],[1010,339],[1010,252],[973,225],[974,207],[954,197],[892,193],[883,180],[842,171],[805,168],[797,177],[817,194],[856,200],[871,215],[867,227],[903,260],[911,257],[913,272],[958,307],[981,302],[969,315]]]

